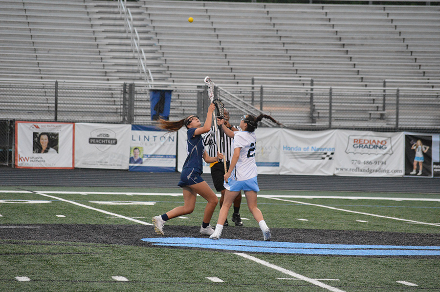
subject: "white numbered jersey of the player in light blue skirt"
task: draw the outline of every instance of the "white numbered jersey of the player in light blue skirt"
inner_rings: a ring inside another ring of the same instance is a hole
[[[255,144],[257,137],[254,132],[235,132],[231,145],[231,158],[235,148],[241,148],[240,157],[231,174],[231,179],[244,181],[257,176],[257,164],[255,163]]]

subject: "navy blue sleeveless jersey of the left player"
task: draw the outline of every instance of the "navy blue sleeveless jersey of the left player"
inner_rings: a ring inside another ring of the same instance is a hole
[[[186,152],[188,157],[186,157],[184,168],[194,168],[196,172],[201,174],[203,172],[203,152],[205,151],[205,146],[203,146],[203,139],[201,135],[193,137],[196,128],[189,128],[187,132],[187,146]]]

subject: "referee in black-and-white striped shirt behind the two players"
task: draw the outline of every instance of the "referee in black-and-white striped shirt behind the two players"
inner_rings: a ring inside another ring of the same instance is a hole
[[[224,109],[224,125],[227,126],[232,131],[238,131],[239,129],[231,124],[229,124],[229,112],[227,109]],[[205,147],[208,147],[208,155],[209,156],[217,156],[217,134],[218,129],[215,129],[215,125],[211,127],[208,133],[206,133],[205,137],[203,138],[203,144]],[[219,133],[220,135],[220,133]],[[231,156],[231,143],[232,138],[229,138],[226,136],[226,134],[223,133],[223,141],[224,145],[220,143],[220,152],[223,153],[224,159],[226,159],[226,169],[229,168],[229,159]],[[214,154],[212,154],[214,153]],[[213,156],[213,157],[214,157]],[[224,200],[224,193],[226,189],[223,187],[223,181],[224,181],[224,164],[223,160],[220,160],[219,162],[211,163],[209,165],[211,167],[211,176],[212,181],[214,183],[214,187],[217,191],[220,191],[221,197],[220,197],[220,208],[223,205]],[[243,226],[242,218],[240,217],[240,205],[242,204],[242,193],[235,198],[234,200],[234,213],[232,214],[232,221],[235,223],[235,226]],[[229,226],[228,219],[224,222],[224,226]]]

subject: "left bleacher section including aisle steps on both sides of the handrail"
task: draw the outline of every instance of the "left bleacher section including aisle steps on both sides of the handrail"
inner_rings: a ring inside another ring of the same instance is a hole
[[[144,9],[133,4],[133,21],[149,65],[157,80],[165,80],[150,29],[144,25]],[[141,80],[116,2],[1,0],[0,7],[0,59],[9,60],[1,64],[0,77]]]

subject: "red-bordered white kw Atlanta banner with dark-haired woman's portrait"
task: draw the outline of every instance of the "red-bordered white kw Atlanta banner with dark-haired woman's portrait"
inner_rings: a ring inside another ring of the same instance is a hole
[[[71,169],[73,123],[15,122],[17,168]]]

